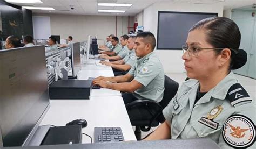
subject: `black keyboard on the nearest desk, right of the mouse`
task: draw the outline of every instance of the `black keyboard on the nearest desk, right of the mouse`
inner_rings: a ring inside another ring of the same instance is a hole
[[[123,133],[120,127],[95,127],[94,142],[119,142],[124,141]]]

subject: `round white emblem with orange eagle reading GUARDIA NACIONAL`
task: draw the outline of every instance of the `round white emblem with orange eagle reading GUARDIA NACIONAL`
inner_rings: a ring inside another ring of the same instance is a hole
[[[234,148],[246,148],[254,143],[255,126],[243,115],[232,115],[223,125],[223,139]]]

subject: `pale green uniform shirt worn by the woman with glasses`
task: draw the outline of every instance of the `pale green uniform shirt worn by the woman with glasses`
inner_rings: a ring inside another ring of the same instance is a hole
[[[234,74],[194,104],[198,88],[197,80],[185,81],[163,110],[172,139],[208,137],[221,148],[256,148],[256,105]]]

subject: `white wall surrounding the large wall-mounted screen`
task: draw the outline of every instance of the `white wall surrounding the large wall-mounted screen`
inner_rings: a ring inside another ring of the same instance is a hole
[[[144,31],[150,31],[157,38],[158,11],[182,11],[182,12],[213,12],[223,16],[223,4],[174,4],[174,3],[155,3],[143,11]],[[181,59],[181,50],[157,50],[165,73],[182,73],[184,61]]]

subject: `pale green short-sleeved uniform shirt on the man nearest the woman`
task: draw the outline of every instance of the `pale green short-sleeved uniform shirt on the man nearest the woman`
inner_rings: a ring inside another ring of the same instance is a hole
[[[164,96],[164,68],[156,53],[151,52],[137,60],[128,72],[134,80],[143,84],[134,91],[138,99],[146,98],[160,102]]]

